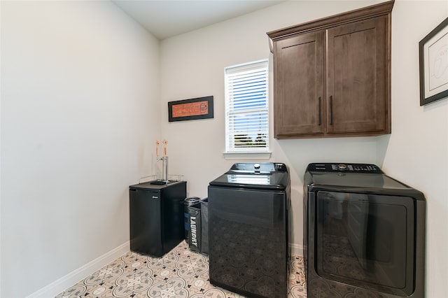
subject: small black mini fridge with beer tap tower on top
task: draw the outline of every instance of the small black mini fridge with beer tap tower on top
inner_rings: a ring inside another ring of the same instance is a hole
[[[162,257],[184,239],[183,201],[187,183],[130,186],[131,250]]]

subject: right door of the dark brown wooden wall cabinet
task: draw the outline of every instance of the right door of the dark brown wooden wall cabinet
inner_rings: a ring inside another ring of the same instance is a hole
[[[388,17],[327,31],[328,134],[390,132]]]

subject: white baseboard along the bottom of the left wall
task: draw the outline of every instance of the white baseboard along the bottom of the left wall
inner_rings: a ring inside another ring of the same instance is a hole
[[[93,260],[85,264],[83,267],[80,267],[66,276],[62,276],[57,281],[50,283],[50,285],[41,288],[41,290],[37,290],[36,292],[29,295],[27,298],[39,298],[39,297],[55,297],[60,292],[70,288],[72,285],[78,283],[83,278],[89,276],[102,267],[106,266],[113,260],[116,260],[118,257],[124,255],[130,250],[130,241],[126,241],[122,245],[114,248],[113,250],[105,253],[104,255],[97,257],[97,259]]]

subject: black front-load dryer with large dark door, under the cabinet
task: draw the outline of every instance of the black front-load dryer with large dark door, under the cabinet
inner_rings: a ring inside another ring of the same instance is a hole
[[[425,208],[422,192],[374,164],[309,164],[308,297],[424,297]]]

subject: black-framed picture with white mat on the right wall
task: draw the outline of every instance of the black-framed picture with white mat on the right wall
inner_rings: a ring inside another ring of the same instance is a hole
[[[448,17],[419,42],[420,106],[448,97]]]

